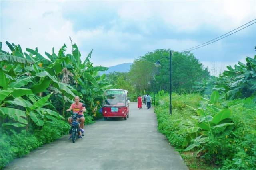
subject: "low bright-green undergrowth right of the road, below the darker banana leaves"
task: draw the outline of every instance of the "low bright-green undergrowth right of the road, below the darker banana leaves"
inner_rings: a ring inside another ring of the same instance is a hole
[[[198,161],[225,170],[255,169],[255,103],[251,98],[226,101],[216,96],[214,92],[212,100],[200,100],[196,94],[173,94],[172,115],[168,113],[169,96],[157,96],[154,111],[159,131],[176,150],[192,150]]]

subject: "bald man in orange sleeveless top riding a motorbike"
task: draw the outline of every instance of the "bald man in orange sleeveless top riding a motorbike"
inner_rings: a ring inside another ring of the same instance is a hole
[[[86,108],[83,107],[83,104],[81,102],[79,102],[80,101],[79,96],[76,96],[74,98],[74,101],[75,102],[71,104],[70,108],[67,109],[67,111],[73,110],[73,113],[78,113],[77,118],[79,118],[80,121],[81,121],[79,129],[81,129],[82,136],[84,136],[84,120],[85,120],[84,119],[84,112],[86,111]],[[72,117],[69,117],[68,118],[68,123],[70,125],[72,124],[72,121],[73,121]],[[79,137],[82,138],[81,134],[79,134],[79,135],[80,135]]]

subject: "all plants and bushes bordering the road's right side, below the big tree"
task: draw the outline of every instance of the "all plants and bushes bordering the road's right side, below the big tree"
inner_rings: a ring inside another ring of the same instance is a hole
[[[197,94],[172,94],[172,115],[169,95],[158,92],[158,129],[190,169],[256,168],[256,57],[246,61],[194,87]]]

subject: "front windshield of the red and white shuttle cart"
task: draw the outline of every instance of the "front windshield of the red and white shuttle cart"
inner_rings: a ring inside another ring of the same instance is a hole
[[[125,92],[121,90],[108,90],[104,97],[104,106],[125,106]]]

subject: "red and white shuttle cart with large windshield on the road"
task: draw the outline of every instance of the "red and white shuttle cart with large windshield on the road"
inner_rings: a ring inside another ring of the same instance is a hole
[[[105,120],[108,117],[129,117],[128,91],[109,89],[104,93],[102,114]]]

